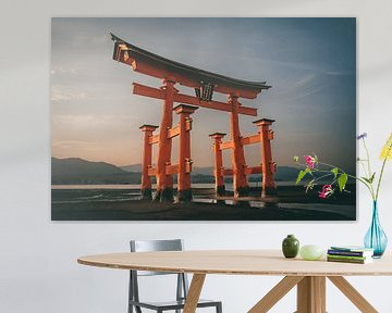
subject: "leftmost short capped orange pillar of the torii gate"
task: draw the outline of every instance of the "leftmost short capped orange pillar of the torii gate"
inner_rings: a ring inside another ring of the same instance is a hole
[[[145,124],[139,128],[145,133],[142,161],[142,199],[152,199],[151,178],[148,175],[148,168],[151,167],[152,162],[152,145],[150,138],[158,126]]]

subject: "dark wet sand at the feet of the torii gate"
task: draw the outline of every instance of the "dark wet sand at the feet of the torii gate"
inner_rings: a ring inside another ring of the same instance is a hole
[[[286,186],[279,189],[278,198],[261,202],[258,197],[260,190],[254,188],[249,197],[243,199],[249,201],[237,204],[232,201],[232,192],[226,192],[226,197],[217,201],[213,190],[209,188],[194,189],[194,201],[188,203],[138,200],[138,190],[128,191],[128,199],[119,200],[115,198],[115,192],[120,192],[119,190],[106,190],[105,192],[113,192],[109,195],[112,198],[108,199],[100,197],[102,190],[94,189],[89,190],[88,197],[85,197],[89,200],[83,201],[81,196],[86,191],[52,189],[52,221],[355,221],[356,218],[355,191],[336,193],[333,198],[322,200],[317,197],[316,191],[305,195],[302,187]],[[97,195],[95,196],[94,192]],[[76,198],[72,200],[75,193],[78,195],[79,200]]]

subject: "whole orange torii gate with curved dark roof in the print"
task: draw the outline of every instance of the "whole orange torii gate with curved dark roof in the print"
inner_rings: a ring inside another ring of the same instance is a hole
[[[143,197],[151,198],[151,181],[149,176],[155,175],[157,177],[156,199],[161,201],[173,200],[173,174],[179,174],[179,200],[186,201],[192,199],[192,160],[189,143],[192,118],[189,117],[189,114],[192,114],[197,107],[230,112],[231,140],[228,141],[226,145],[228,147],[230,146],[230,149],[232,149],[233,168],[231,174],[233,175],[234,197],[238,198],[247,196],[248,184],[246,175],[256,172],[250,171],[249,173],[249,168],[246,166],[243,147],[246,140],[244,141],[244,138],[241,137],[238,115],[244,114],[257,116],[257,110],[254,108],[243,107],[238,102],[238,98],[255,99],[261,90],[267,90],[270,86],[266,85],[266,82],[256,83],[235,79],[181,64],[133,46],[113,34],[111,34],[111,38],[114,41],[113,60],[132,66],[132,68],[136,72],[160,78],[163,82],[163,86],[160,88],[152,88],[137,83],[133,84],[133,93],[163,100],[162,118],[159,126],[160,133],[158,135],[152,135],[154,130],[156,130],[158,126],[140,126],[140,129],[145,132],[142,176]],[[174,87],[176,83],[195,88],[196,97],[180,93]],[[213,101],[213,91],[228,95],[228,103]],[[182,104],[173,109],[174,102],[196,105],[196,108]],[[172,125],[173,110],[180,114],[180,123],[175,127]],[[177,165],[172,165],[172,138],[175,136],[180,137],[180,159]],[[265,190],[275,189],[272,175],[273,173],[270,173],[270,171],[267,170],[265,171],[265,167],[270,168],[270,165],[273,163],[270,153],[270,143],[269,140],[262,141],[262,138],[265,138],[264,135],[260,138],[261,139],[258,142],[266,143],[266,147],[269,145],[269,147],[262,148],[262,155],[265,160],[260,166],[260,168],[262,167],[262,171],[260,170],[260,172],[264,174],[264,183],[268,183],[267,185],[264,184],[264,187],[266,187]],[[151,166],[151,145],[154,143],[158,143],[156,168],[152,168]],[[220,149],[222,149],[222,147],[219,147],[218,150]],[[220,180],[218,181],[217,178],[217,173],[219,173],[219,171],[220,168],[216,167],[217,192],[220,186]]]

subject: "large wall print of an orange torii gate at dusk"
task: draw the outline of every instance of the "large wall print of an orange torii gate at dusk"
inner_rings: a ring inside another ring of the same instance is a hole
[[[356,220],[355,18],[51,28],[53,221]]]

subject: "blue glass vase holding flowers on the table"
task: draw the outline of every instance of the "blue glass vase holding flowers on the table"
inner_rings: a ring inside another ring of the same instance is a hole
[[[366,248],[375,249],[373,258],[381,258],[387,249],[388,238],[380,225],[377,201],[372,203],[371,224],[366,233],[364,243]]]

